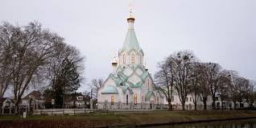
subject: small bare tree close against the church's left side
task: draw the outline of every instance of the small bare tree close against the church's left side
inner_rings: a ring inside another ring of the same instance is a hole
[[[91,89],[91,97],[94,97],[97,99],[97,93],[99,92],[99,89],[103,85],[103,80],[102,79],[93,79],[89,85]]]

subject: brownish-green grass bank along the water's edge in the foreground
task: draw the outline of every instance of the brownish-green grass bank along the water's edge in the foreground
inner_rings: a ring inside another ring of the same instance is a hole
[[[0,127],[109,127],[147,126],[155,124],[221,121],[256,118],[256,111],[151,111],[114,114],[85,114],[79,116],[0,116]]]

